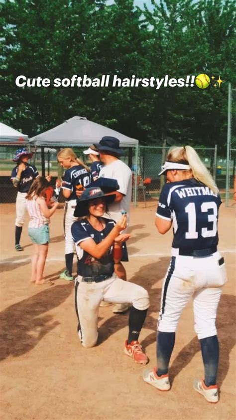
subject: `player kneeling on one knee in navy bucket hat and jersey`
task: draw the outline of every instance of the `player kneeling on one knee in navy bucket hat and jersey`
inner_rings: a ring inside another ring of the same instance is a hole
[[[116,195],[105,195],[98,187],[87,188],[79,199],[71,231],[80,262],[75,285],[75,307],[79,320],[78,335],[84,347],[93,347],[98,340],[99,305],[104,300],[112,303],[132,304],[128,320],[128,338],[124,353],[136,363],[146,364],[138,337],[149,307],[147,291],[137,284],[118,278],[114,264],[122,256],[122,242],[130,235],[122,233],[127,215],[118,222],[104,218],[107,206]]]

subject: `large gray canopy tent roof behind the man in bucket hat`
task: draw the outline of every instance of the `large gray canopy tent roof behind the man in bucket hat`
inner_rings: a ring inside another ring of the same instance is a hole
[[[36,146],[87,146],[98,143],[104,136],[118,138],[122,146],[135,146],[138,140],[131,139],[118,131],[87,120],[85,117],[73,117],[64,123],[32,137],[29,141]]]

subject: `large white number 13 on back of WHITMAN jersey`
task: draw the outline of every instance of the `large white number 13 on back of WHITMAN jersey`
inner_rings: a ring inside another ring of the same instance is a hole
[[[212,222],[212,229],[209,230],[207,227],[203,227],[201,229],[201,235],[204,238],[216,236],[217,233],[217,205],[215,202],[207,202],[202,203],[201,205],[201,211],[207,212],[208,210],[212,209],[213,214],[208,214],[208,221]],[[196,231],[197,227],[197,217],[196,217],[196,207],[194,203],[189,203],[188,206],[185,207],[185,212],[188,213],[188,223],[189,223],[189,229],[188,232],[185,233],[186,239],[197,239],[198,238],[198,232]]]

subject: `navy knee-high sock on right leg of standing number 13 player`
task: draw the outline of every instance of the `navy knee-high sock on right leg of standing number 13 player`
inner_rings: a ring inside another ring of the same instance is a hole
[[[200,340],[202,358],[205,371],[205,384],[207,387],[216,385],[219,364],[219,341],[217,335]]]

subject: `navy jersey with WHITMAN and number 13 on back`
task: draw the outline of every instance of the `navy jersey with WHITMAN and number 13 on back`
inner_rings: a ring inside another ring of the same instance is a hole
[[[164,185],[156,215],[172,220],[172,247],[189,250],[218,244],[219,194],[194,178]]]

